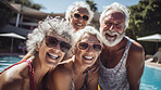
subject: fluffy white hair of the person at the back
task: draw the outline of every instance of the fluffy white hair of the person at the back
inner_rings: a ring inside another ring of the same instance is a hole
[[[71,4],[67,10],[66,10],[66,14],[65,14],[65,18],[66,21],[70,23],[70,18],[72,16],[72,14],[77,11],[77,9],[81,9],[81,8],[84,8],[84,9],[87,9],[88,13],[89,13],[89,20],[88,20],[88,24],[90,24],[92,17],[94,17],[94,12],[90,10],[90,7],[88,3],[86,3],[85,1],[76,1],[76,2],[73,2],[73,4]]]

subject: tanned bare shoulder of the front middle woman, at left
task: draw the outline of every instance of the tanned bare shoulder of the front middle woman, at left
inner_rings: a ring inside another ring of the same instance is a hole
[[[59,64],[48,75],[48,87],[50,90],[70,90],[72,80],[71,61]],[[62,87],[63,85],[63,87]]]

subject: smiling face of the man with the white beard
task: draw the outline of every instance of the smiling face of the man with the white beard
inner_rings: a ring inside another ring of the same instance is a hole
[[[125,36],[125,15],[121,11],[109,10],[101,24],[102,41],[108,47],[119,43]]]

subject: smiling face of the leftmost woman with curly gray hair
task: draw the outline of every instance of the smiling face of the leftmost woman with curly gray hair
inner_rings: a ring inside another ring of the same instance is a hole
[[[62,47],[65,42],[69,43],[69,41],[61,36],[47,34],[38,49],[41,64],[46,64],[46,66],[49,67],[57,66],[65,55],[65,50]]]

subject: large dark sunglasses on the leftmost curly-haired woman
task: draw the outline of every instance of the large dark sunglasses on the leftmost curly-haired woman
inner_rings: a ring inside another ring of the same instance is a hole
[[[57,38],[51,37],[51,36],[46,36],[46,44],[47,44],[47,47],[53,48],[53,47],[57,47],[58,43],[60,44],[60,49],[63,52],[67,52],[72,47],[70,43],[67,43],[65,41],[58,40]]]

